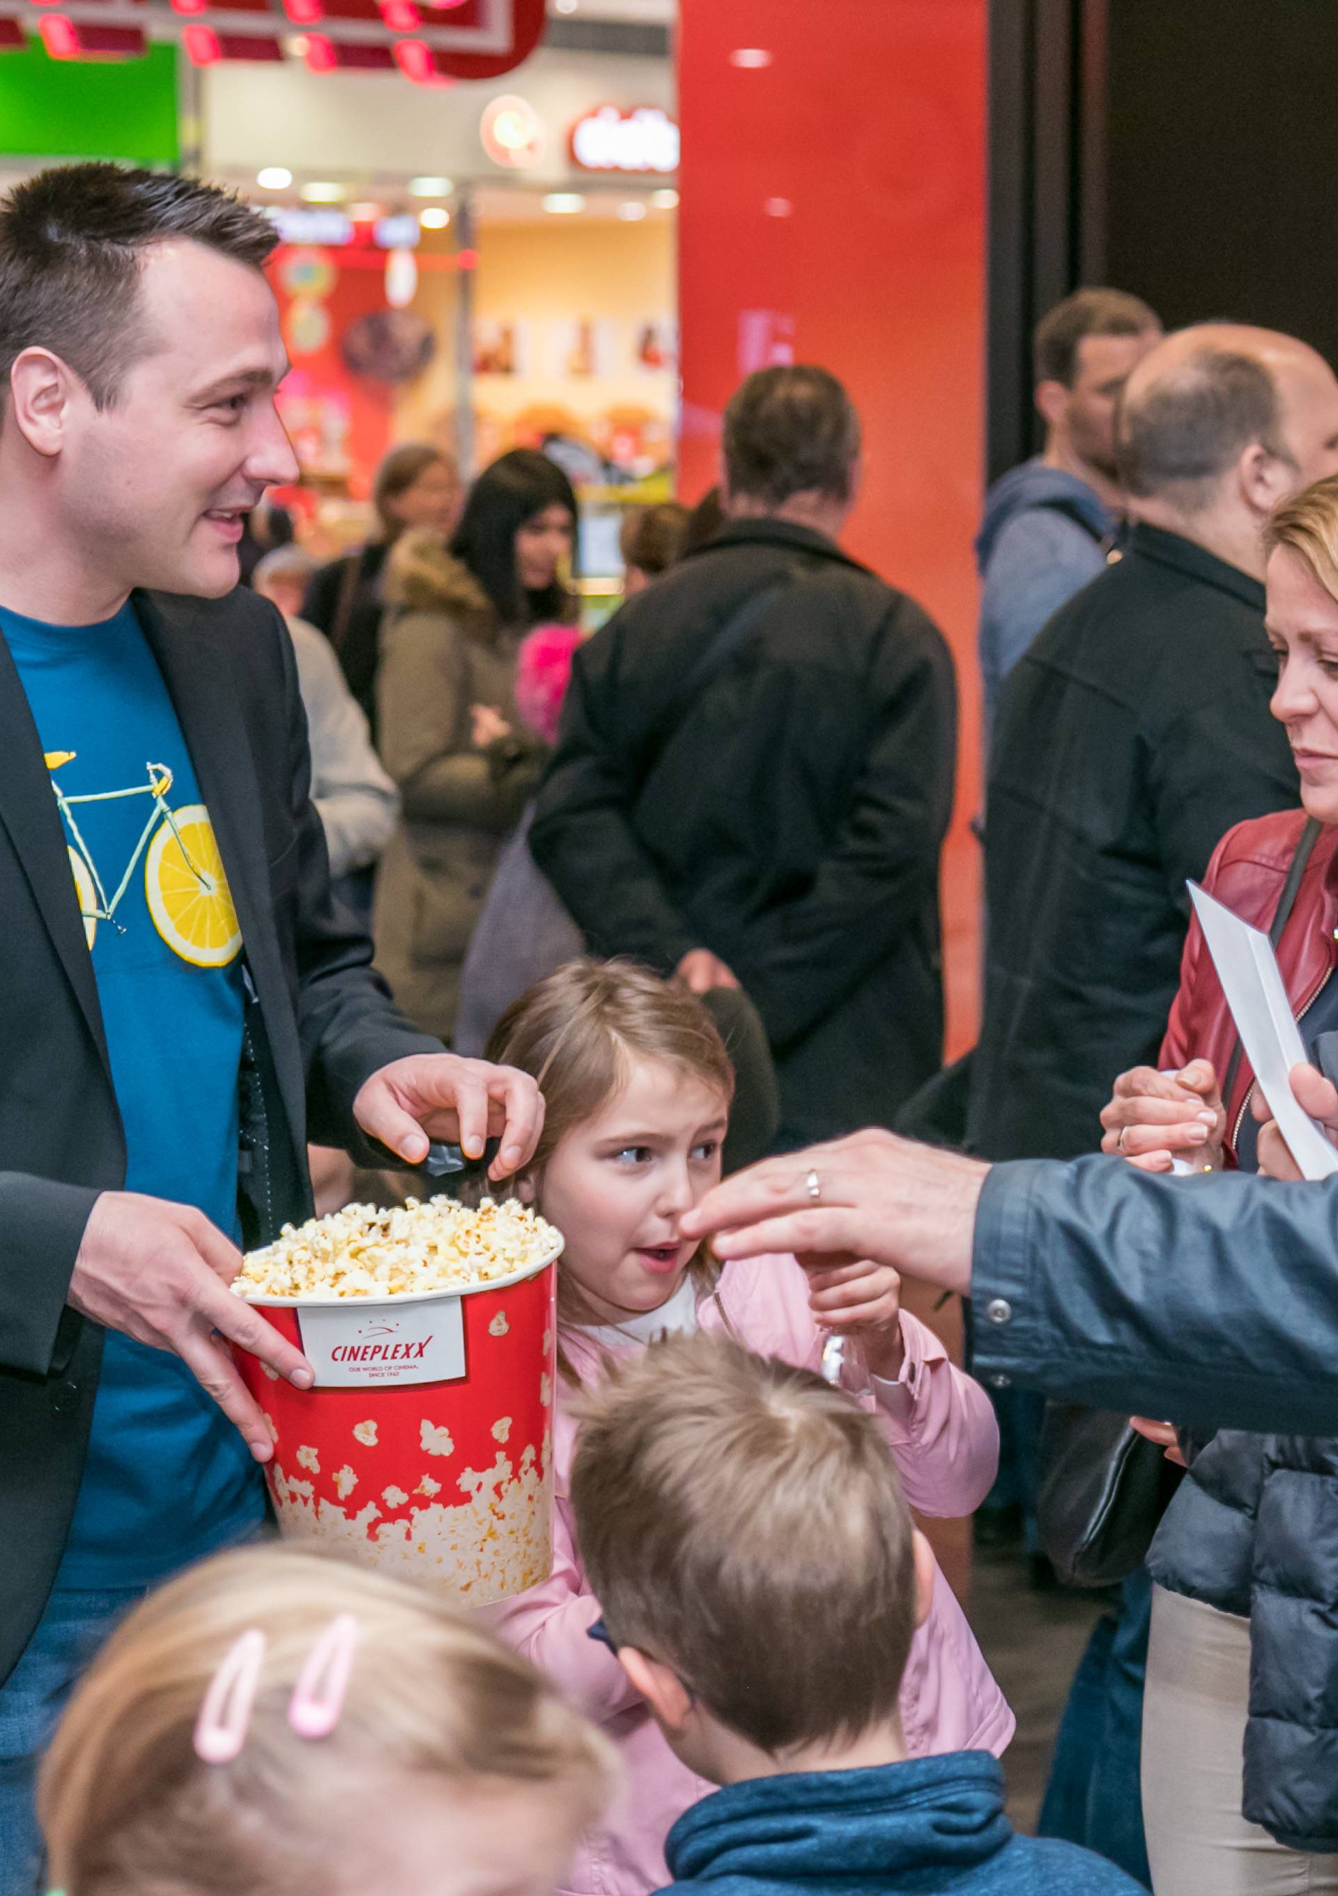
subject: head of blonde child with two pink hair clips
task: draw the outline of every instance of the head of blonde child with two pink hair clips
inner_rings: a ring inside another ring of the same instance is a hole
[[[271,1547],[125,1621],[38,1803],[63,1896],[550,1896],[612,1771],[476,1623]]]

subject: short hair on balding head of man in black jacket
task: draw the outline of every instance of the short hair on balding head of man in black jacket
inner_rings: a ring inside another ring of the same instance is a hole
[[[1289,459],[1281,400],[1268,368],[1239,349],[1203,343],[1122,402],[1114,455],[1124,487],[1184,512],[1213,499],[1220,478],[1258,442]]]

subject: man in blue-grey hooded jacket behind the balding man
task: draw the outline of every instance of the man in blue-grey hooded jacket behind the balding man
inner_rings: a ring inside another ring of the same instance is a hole
[[[1037,324],[1044,447],[993,483],[976,537],[985,728],[1044,622],[1107,563],[1122,501],[1114,404],[1160,337],[1156,313],[1122,290],[1076,290]]]

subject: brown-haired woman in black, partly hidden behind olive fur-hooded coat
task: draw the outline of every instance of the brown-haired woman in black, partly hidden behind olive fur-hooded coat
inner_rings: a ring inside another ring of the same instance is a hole
[[[461,518],[461,476],[449,455],[426,442],[406,442],[383,459],[371,483],[377,531],[366,546],[332,559],[313,574],[301,616],[330,639],[349,690],[377,730],[377,641],[385,612],[385,563],[409,527],[449,538]]]

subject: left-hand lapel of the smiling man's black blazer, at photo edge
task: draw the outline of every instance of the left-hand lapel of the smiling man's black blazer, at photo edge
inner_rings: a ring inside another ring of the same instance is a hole
[[[80,920],[80,899],[61,811],[51,794],[51,775],[42,760],[42,739],[9,647],[0,639],[0,823],[13,842],[32,897],[42,912],[51,946],[87,1020],[93,1045],[110,1079],[102,1009],[97,999],[93,959]]]

